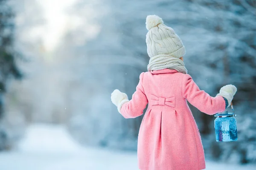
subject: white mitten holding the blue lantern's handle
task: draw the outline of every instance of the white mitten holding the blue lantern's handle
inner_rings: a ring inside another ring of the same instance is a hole
[[[216,96],[222,96],[224,98],[227,99],[227,102],[228,102],[228,106],[230,106],[230,103],[232,102],[233,100],[233,96],[236,94],[236,86],[234,85],[225,85],[221,88],[220,90],[220,93],[217,94]]]

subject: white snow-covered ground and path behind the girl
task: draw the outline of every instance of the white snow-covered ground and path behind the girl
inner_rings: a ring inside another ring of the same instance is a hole
[[[255,170],[207,161],[207,170]],[[0,153],[0,170],[138,170],[134,152],[81,147],[59,125],[31,125],[17,150]]]

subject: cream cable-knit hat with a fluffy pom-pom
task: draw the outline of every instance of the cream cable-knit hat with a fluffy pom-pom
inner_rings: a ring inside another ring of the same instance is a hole
[[[172,28],[163,24],[162,18],[156,15],[148,15],[146,28],[148,29],[146,43],[149,57],[168,54],[172,57],[180,58],[186,54],[180,37],[175,34]]]

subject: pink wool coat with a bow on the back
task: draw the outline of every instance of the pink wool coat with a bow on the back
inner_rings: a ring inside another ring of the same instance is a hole
[[[223,97],[201,91],[189,74],[170,69],[140,74],[136,92],[120,110],[125,118],[135,118],[148,104],[138,138],[140,170],[205,169],[201,136],[187,100],[210,115],[226,106]]]

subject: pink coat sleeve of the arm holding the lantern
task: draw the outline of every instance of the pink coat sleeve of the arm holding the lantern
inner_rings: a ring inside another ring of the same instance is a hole
[[[185,74],[183,77],[182,93],[190,104],[206,114],[213,115],[223,112],[226,108],[226,103],[222,96],[211,97],[205,91],[201,91],[189,74]]]

